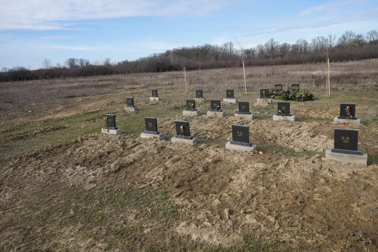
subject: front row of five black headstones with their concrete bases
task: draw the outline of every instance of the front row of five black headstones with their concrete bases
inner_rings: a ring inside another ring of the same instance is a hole
[[[105,119],[107,126],[102,129],[102,132],[121,134],[121,130],[116,127],[115,115],[105,114]],[[158,131],[156,117],[144,117],[144,121],[146,130],[141,133],[141,138],[164,140],[164,134]],[[175,126],[176,135],[171,138],[171,142],[198,144],[197,138],[190,133],[189,121],[175,121]],[[241,152],[256,151],[256,145],[252,145],[249,141],[249,126],[232,124],[232,139],[226,143],[225,147]],[[326,150],[325,158],[367,165],[367,154],[358,150],[358,130],[335,128],[334,147],[331,150]]]

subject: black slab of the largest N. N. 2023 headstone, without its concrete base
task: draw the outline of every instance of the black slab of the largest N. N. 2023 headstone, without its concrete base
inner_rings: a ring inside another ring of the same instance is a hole
[[[358,150],[358,130],[335,128],[335,143],[331,152],[362,155]]]

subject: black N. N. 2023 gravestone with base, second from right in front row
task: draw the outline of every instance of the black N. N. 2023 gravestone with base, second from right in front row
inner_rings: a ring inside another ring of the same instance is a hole
[[[226,149],[242,152],[256,151],[256,145],[249,142],[249,126],[232,124],[232,140],[226,143]]]

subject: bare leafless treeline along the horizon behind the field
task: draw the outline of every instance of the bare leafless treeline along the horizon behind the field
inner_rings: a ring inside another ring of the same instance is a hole
[[[378,58],[378,32],[372,30],[366,35],[346,31],[338,39],[336,35],[318,36],[310,42],[299,39],[294,44],[280,43],[270,39],[253,48],[244,48],[235,38],[234,42],[223,45],[204,44],[201,46],[180,47],[164,53],[151,54],[137,60],[91,63],[87,59],[69,58],[64,65],[53,66],[51,60],[44,59],[41,69],[29,70],[22,66],[3,68],[1,81],[51,79],[59,77],[99,76],[108,74],[131,74],[148,72],[177,71],[211,68],[266,66],[301,64],[307,62],[335,62]]]

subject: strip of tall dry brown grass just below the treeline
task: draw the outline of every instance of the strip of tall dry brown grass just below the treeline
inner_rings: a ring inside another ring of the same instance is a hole
[[[332,63],[332,91],[378,90],[374,61]],[[291,83],[301,83],[301,88],[325,90],[327,79],[326,64],[280,65],[247,67],[247,90],[258,91],[282,83],[283,88]],[[234,89],[243,91],[243,69],[223,68],[187,72],[188,90],[202,89],[204,93]],[[95,96],[122,90],[135,90],[173,83],[183,88],[184,76],[181,71],[167,73],[123,74],[97,77],[62,78],[7,82],[0,85],[0,111],[31,107],[40,102],[70,97]],[[184,90],[184,89],[183,89]]]

